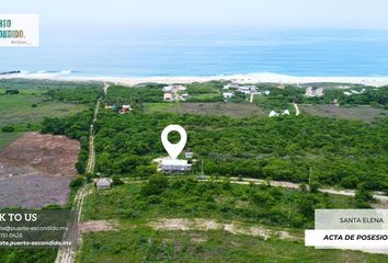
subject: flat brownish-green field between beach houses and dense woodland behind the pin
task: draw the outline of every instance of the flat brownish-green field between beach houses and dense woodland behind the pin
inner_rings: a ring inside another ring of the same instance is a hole
[[[198,115],[225,115],[230,117],[266,116],[264,111],[253,104],[235,104],[222,102],[210,103],[145,103],[144,112],[198,114]]]

